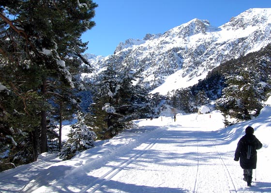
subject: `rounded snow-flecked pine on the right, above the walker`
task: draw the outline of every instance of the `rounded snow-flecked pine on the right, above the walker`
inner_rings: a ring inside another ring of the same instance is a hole
[[[227,87],[223,89],[223,96],[216,101],[218,109],[225,115],[239,120],[251,119],[262,108],[258,99],[257,83],[260,83],[252,71],[240,70],[240,75],[230,75],[226,78]]]

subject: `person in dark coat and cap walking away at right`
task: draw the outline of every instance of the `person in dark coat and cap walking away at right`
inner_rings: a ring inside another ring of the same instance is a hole
[[[244,178],[247,186],[251,186],[252,170],[256,169],[257,151],[262,147],[261,142],[253,135],[254,129],[248,126],[245,129],[245,135],[239,140],[235,150],[234,161],[239,161],[244,172]]]

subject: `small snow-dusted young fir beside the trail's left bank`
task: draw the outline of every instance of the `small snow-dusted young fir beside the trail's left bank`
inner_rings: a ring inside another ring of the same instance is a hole
[[[77,123],[71,126],[68,137],[58,154],[63,160],[70,160],[76,154],[95,146],[96,134],[90,127],[86,126],[82,113],[78,113]]]

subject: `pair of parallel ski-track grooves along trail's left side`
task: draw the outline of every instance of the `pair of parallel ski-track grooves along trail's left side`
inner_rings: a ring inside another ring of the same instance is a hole
[[[146,145],[138,153],[135,153],[134,155],[130,156],[127,160],[122,161],[117,166],[114,166],[112,169],[110,169],[108,172],[106,172],[103,176],[95,179],[90,185],[88,185],[86,188],[81,190],[79,193],[94,193],[95,191],[99,190],[112,177],[116,176],[121,170],[123,170],[125,167],[127,167],[129,164],[131,164],[133,161],[140,158],[144,153],[146,153],[147,150],[151,149],[151,147],[157,143],[157,141],[164,135],[165,132],[166,131],[163,130],[163,131],[159,132],[159,135],[155,139],[149,139],[148,141],[151,141],[150,144]],[[138,146],[140,146],[140,145],[138,145]]]

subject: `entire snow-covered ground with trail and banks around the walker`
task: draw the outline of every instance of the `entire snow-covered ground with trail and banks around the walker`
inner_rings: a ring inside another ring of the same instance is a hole
[[[271,192],[271,107],[253,120],[224,128],[218,111],[136,120],[94,148],[60,161],[44,153],[38,161],[0,173],[1,193],[268,193]],[[252,187],[242,180],[235,148],[247,126],[258,150]]]

